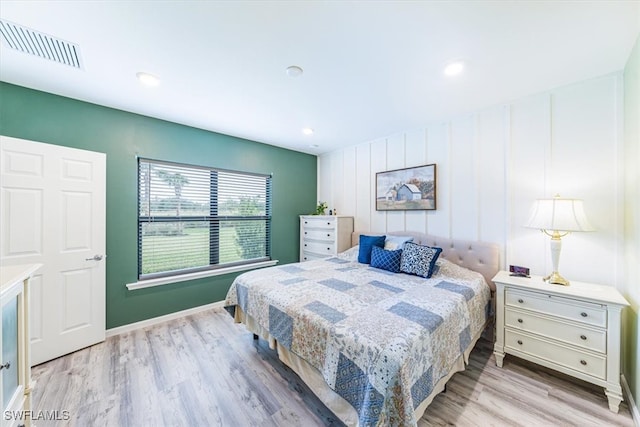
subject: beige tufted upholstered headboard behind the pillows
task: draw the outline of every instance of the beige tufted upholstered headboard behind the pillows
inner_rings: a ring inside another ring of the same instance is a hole
[[[352,246],[359,243],[360,234],[369,236],[382,235],[381,233],[354,232],[351,234]],[[491,290],[495,290],[495,285],[491,279],[500,270],[500,247],[498,245],[472,240],[448,239],[411,231],[396,231],[384,234],[389,236],[411,236],[414,243],[442,248],[441,257],[482,274]]]

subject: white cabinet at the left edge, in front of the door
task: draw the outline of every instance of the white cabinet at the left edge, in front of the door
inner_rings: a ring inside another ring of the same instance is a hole
[[[0,267],[0,402],[7,427],[31,424],[29,279],[39,268]]]

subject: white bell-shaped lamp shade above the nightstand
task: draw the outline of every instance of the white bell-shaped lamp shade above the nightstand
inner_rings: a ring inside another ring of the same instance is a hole
[[[538,199],[525,227],[552,231],[593,231],[579,199]]]

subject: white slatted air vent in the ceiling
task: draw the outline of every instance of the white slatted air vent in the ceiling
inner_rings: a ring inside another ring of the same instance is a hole
[[[80,48],[76,44],[4,20],[0,20],[0,35],[2,43],[11,49],[82,68]]]

